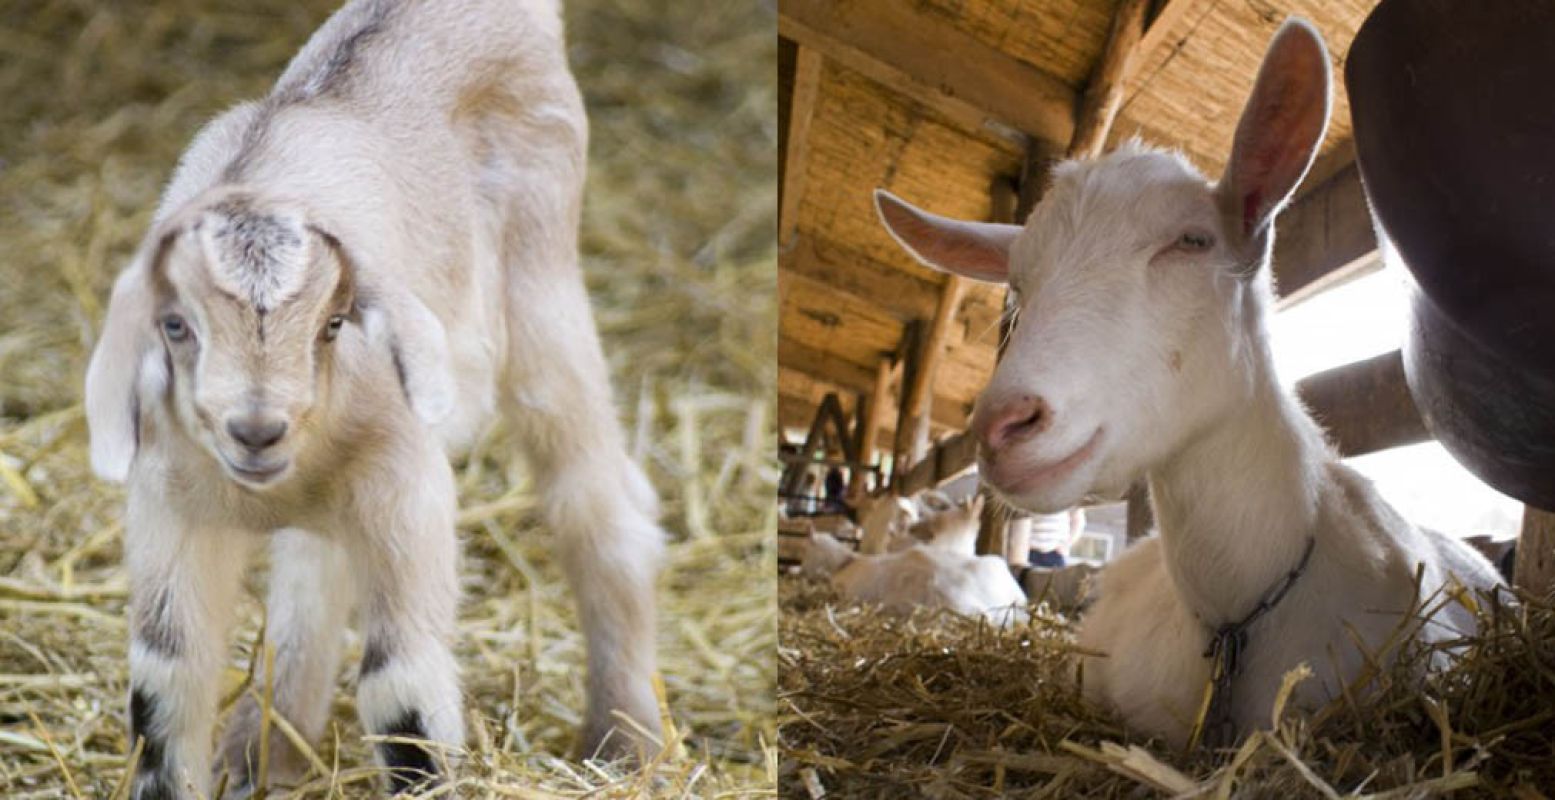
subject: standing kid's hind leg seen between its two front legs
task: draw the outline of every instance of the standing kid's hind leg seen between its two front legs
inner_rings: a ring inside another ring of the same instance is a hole
[[[355,602],[345,548],[308,531],[283,529],[271,540],[271,588],[266,602],[266,638],[275,646],[272,707],[303,739],[319,741],[330,718],[330,699],[341,666],[342,630]],[[263,686],[263,652],[255,675]],[[232,797],[255,789],[260,775],[260,704],[246,694],[227,724],[221,756]],[[308,772],[308,761],[278,725],[271,727],[274,784],[291,784]]]

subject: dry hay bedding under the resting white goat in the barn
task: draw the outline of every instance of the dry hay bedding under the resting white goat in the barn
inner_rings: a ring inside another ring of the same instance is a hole
[[[1051,613],[897,621],[798,577],[779,598],[784,797],[1555,795],[1555,596],[1440,599],[1482,624],[1448,671],[1421,680],[1429,652],[1404,646],[1330,708],[1272,710],[1275,730],[1197,753],[1082,702],[1073,623]]]

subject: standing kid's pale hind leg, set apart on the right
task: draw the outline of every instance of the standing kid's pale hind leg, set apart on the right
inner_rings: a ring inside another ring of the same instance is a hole
[[[578,756],[655,750],[658,501],[624,445],[583,282],[571,263],[510,277],[508,411],[588,646]],[[636,727],[624,725],[625,714]]]

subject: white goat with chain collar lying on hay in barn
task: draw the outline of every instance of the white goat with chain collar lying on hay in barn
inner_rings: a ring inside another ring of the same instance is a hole
[[[1025,227],[879,195],[886,227],[925,263],[1009,282],[1019,297],[1019,327],[973,414],[984,479],[1017,507],[1054,512],[1148,476],[1160,537],[1102,576],[1081,643],[1110,655],[1087,663],[1085,689],[1176,742],[1210,680],[1210,647],[1241,655],[1211,713],[1228,739],[1266,724],[1302,661],[1319,677],[1298,700],[1334,697],[1362,665],[1345,624],[1379,647],[1417,602],[1417,567],[1424,593],[1497,584],[1473,549],[1400,518],[1275,380],[1272,223],[1323,139],[1328,96],[1322,39],[1292,20],[1218,184],[1126,145],[1059,165]],[[1241,624],[1292,571],[1283,599]],[[1471,627],[1448,605],[1420,635]]]

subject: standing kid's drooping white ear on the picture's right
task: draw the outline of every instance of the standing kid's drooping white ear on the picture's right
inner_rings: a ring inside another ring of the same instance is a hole
[[[454,375],[448,369],[443,322],[411,289],[364,271],[339,238],[316,232],[348,272],[367,339],[389,347],[393,355],[411,411],[428,425],[443,422],[454,409]]]

